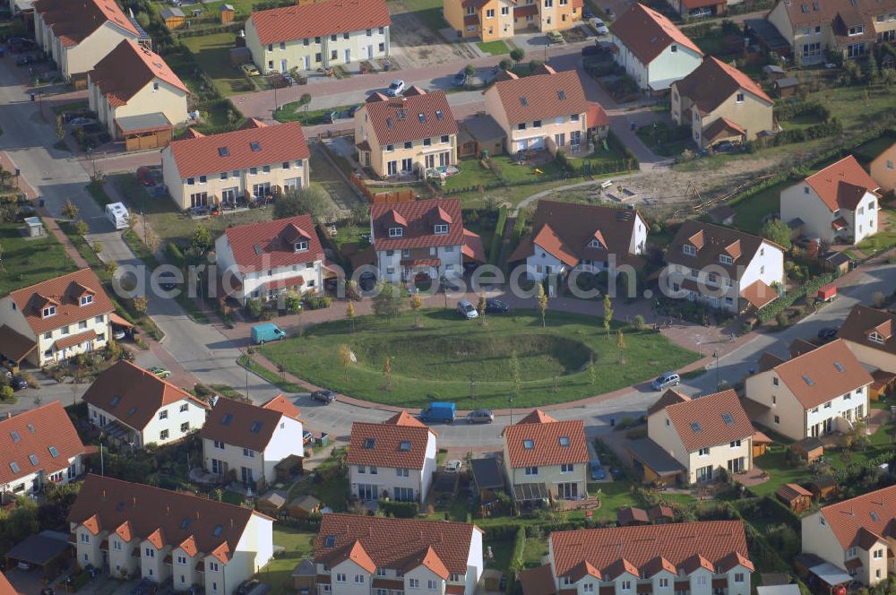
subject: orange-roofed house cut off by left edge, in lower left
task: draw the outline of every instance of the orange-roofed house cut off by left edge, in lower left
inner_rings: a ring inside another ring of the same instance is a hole
[[[59,401],[0,418],[0,494],[24,496],[84,472],[85,446]]]

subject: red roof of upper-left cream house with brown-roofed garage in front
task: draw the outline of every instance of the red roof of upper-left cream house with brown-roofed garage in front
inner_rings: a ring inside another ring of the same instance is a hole
[[[99,91],[113,108],[125,105],[157,78],[184,93],[188,92],[186,85],[161,56],[130,39],[119,43],[100,60],[90,71],[89,77],[90,82],[99,85]]]

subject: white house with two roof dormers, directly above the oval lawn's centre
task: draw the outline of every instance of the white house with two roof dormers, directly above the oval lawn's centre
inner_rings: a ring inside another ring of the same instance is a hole
[[[461,201],[454,198],[371,205],[370,243],[377,278],[390,283],[419,274],[457,277],[464,263],[485,262],[482,240],[463,229]]]

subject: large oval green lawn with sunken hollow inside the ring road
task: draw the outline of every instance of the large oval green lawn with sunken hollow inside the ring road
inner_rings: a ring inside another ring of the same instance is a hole
[[[620,350],[616,334],[607,337],[600,318],[561,312],[547,313],[547,328],[530,310],[488,316],[486,326],[441,308],[423,311],[419,329],[409,312],[391,323],[372,316],[356,320],[354,333],[346,321],[322,323],[303,337],[261,351],[294,375],[361,399],[409,408],[457,401],[459,409],[507,406],[513,352],[520,364],[517,407],[615,391],[697,357],[657,332],[630,329],[625,330],[626,349]],[[345,371],[337,357],[343,343],[358,359]],[[382,374],[385,358],[392,367],[388,387]],[[596,369],[593,384],[585,369],[590,358]]]

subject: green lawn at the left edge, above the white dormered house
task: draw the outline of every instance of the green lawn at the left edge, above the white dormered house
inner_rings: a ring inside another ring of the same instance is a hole
[[[0,223],[0,296],[41,281],[73,272],[77,267],[56,237],[22,236],[24,223]]]

